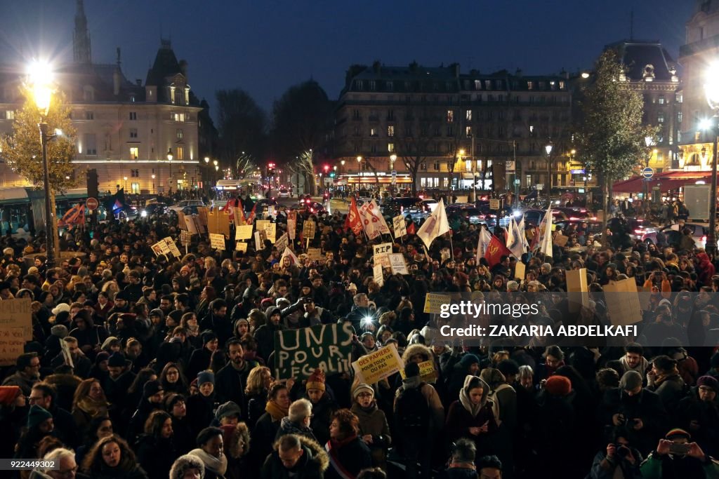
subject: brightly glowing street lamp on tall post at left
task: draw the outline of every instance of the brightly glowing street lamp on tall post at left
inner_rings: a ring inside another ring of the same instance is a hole
[[[55,267],[55,223],[52,220],[54,205],[50,200],[50,169],[47,164],[47,142],[55,138],[55,135],[48,134],[47,113],[50,111],[52,100],[52,72],[49,65],[42,62],[34,62],[28,70],[29,83],[32,88],[32,97],[35,105],[40,110],[40,145],[42,146],[42,174],[45,177],[45,254],[47,256],[47,268]]]

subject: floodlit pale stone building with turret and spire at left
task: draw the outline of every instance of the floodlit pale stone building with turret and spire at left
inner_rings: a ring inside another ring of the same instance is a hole
[[[178,61],[168,40],[162,40],[155,62],[143,83],[122,73],[116,64],[92,62],[91,42],[83,1],[77,1],[73,62],[55,71],[58,88],[72,109],[76,129],[75,175],[84,186],[88,169],[95,169],[101,194],[124,188],[134,194],[161,194],[201,188],[211,177],[202,161],[209,154],[199,137],[214,127],[188,83],[187,62]],[[2,68],[0,83],[0,134],[12,133],[14,111],[22,106],[19,85],[23,71]],[[200,128],[202,121],[205,126]],[[0,164],[0,186],[21,186],[25,181]]]

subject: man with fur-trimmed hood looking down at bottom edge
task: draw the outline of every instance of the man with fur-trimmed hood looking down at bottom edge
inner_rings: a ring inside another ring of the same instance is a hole
[[[322,479],[329,456],[316,441],[286,434],[275,442],[272,454],[262,465],[262,479]]]

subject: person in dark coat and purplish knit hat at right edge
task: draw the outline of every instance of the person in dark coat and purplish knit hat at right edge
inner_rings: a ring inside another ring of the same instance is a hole
[[[719,457],[719,381],[701,376],[692,394],[679,401],[682,428],[708,455]]]

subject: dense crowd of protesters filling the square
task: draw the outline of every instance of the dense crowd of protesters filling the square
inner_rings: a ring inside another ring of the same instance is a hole
[[[309,241],[308,218],[318,232]],[[490,267],[477,263],[480,226],[451,216],[451,238],[426,252],[417,236],[394,241],[410,274],[385,269],[380,286],[371,243],[339,213],[299,215],[298,264],[270,241],[245,253],[201,235],[180,258],[156,256],[150,246],[167,236],[184,249],[176,221],[72,231],[60,246],[78,254],[54,268],[24,259],[42,254],[42,238],[1,239],[0,300],[32,300],[33,340],[0,375],[0,457],[57,465],[19,476],[719,477],[719,276],[704,251],[617,250],[565,231],[572,241],[551,257]],[[323,261],[308,261],[306,246]],[[582,268],[592,297],[570,313],[565,271]],[[459,347],[424,312],[428,292],[546,291],[554,304],[532,322],[609,324],[603,286],[627,278],[652,292],[633,318],[638,338]],[[336,322],[354,327],[353,359],[394,343],[404,378],[367,384],[318,369],[273,379],[276,331]]]

